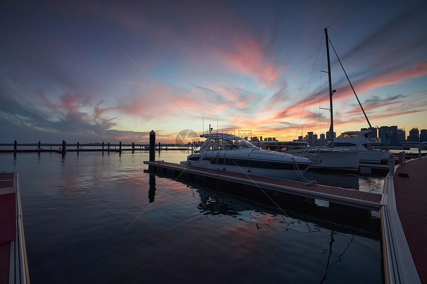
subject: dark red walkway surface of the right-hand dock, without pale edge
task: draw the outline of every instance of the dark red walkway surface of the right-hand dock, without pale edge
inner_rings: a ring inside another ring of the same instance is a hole
[[[407,173],[409,176],[399,176]],[[427,159],[400,165],[393,178],[396,209],[421,283],[427,283]]]

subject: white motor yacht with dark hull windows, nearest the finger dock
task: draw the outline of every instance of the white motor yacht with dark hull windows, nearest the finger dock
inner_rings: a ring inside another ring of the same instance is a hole
[[[245,139],[226,133],[202,134],[199,153],[181,164],[253,175],[298,179],[312,162],[304,157],[262,150]]]

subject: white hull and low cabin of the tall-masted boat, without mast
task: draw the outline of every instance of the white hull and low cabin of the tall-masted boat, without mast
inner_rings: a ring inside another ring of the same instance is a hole
[[[314,162],[310,169],[327,170],[358,170],[359,153],[356,151],[340,151],[325,147],[310,147],[305,142],[264,142],[261,149],[275,149],[286,153],[302,156]]]

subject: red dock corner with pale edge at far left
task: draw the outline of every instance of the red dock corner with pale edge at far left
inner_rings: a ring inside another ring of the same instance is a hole
[[[0,173],[0,283],[30,283],[17,172]]]

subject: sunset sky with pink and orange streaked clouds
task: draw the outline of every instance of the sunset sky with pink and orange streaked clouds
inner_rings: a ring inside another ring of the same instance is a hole
[[[3,0],[0,143],[326,133],[325,27],[371,125],[427,129],[425,0]],[[330,55],[334,131],[368,127]]]

